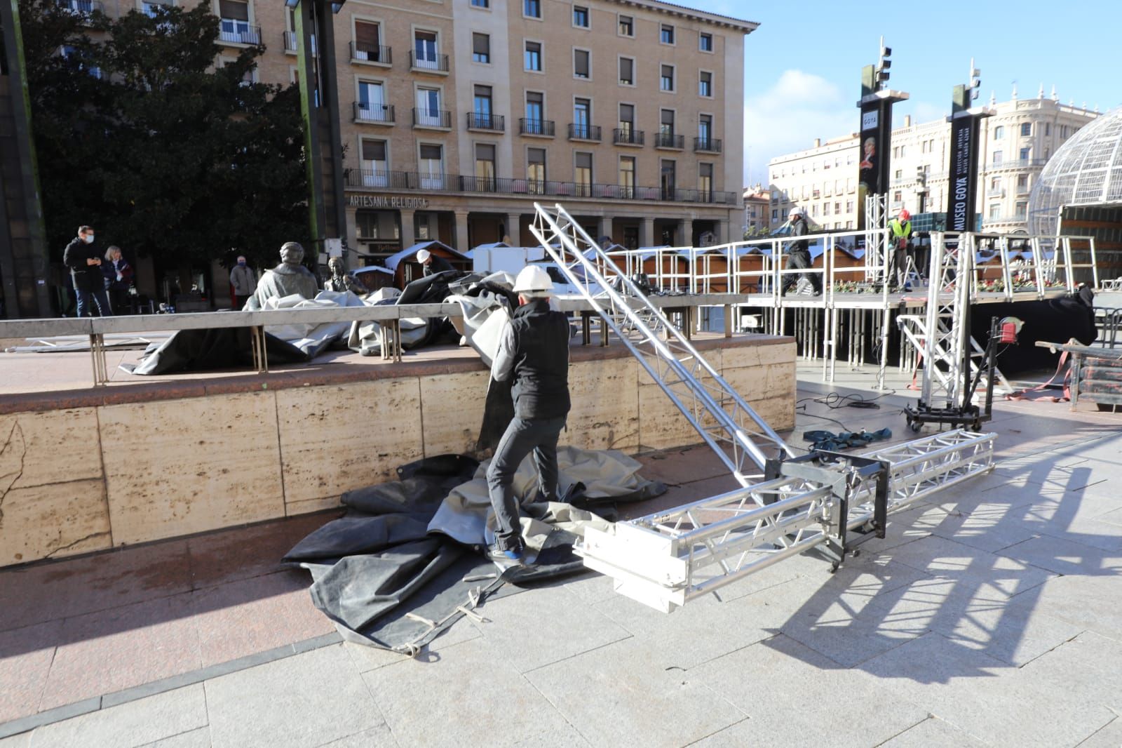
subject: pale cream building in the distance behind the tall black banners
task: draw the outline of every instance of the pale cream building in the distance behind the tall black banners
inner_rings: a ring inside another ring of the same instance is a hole
[[[1060,103],[1055,97],[991,101],[982,120],[976,209],[985,231],[1028,230],[1029,193],[1048,158],[1080,127],[1097,117],[1086,108]],[[807,209],[824,229],[852,229],[857,221],[856,134],[815,142],[807,150],[769,163],[771,227],[781,226],[791,208]],[[944,212],[950,163],[950,124],[936,120],[892,130],[889,210]]]

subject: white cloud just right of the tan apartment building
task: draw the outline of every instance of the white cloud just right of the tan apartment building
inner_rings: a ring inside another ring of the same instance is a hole
[[[746,183],[765,181],[775,156],[810,148],[815,138],[825,143],[856,131],[856,101],[825,77],[800,70],[784,71],[770,89],[745,99]]]

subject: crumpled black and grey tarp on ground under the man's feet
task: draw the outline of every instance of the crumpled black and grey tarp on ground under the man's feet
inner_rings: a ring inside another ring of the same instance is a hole
[[[578,502],[634,501],[665,491],[642,478],[640,464],[622,453],[567,447],[559,462],[561,485]],[[399,481],[344,494],[347,516],[309,535],[284,562],[309,569],[313,603],[343,637],[408,654],[462,615],[458,609],[504,594],[507,581],[581,571],[572,544],[585,527],[607,521],[571,504],[535,503],[527,458],[515,489],[528,555],[536,563],[498,574],[479,553],[494,526],[485,473],[486,463],[460,455],[403,466]]]

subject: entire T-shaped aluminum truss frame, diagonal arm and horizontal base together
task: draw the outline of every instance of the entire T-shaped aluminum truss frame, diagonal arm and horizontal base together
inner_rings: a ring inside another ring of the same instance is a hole
[[[993,467],[994,435],[964,430],[859,456],[795,457],[564,208],[534,208],[534,237],[744,486],[588,530],[577,553],[617,591],[669,612],[810,548],[837,568],[858,542],[884,537],[890,511]],[[753,425],[778,458],[751,440]],[[746,473],[747,458],[763,476]]]

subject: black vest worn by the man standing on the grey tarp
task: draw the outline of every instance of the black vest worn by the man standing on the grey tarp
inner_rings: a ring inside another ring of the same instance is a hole
[[[546,299],[518,307],[511,316],[514,384],[518,418],[562,418],[569,400],[569,319]]]

